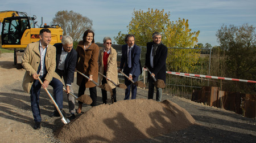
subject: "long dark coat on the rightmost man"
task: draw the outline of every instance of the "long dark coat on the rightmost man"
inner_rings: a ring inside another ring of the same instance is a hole
[[[155,57],[153,59],[153,65],[154,68],[150,65],[150,54],[152,49],[153,42],[147,43],[147,52],[146,52],[146,61],[145,66],[148,67],[148,69],[155,74],[156,79],[164,80],[164,83],[166,82],[166,58],[168,49],[163,44],[160,44],[158,46],[158,49],[156,50]],[[148,78],[150,78],[150,74],[147,74]]]

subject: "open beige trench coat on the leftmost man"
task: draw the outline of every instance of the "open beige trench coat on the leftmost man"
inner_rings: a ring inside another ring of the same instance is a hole
[[[34,78],[32,75],[38,71],[38,67],[40,64],[40,51],[39,51],[39,41],[28,44],[23,57],[22,57],[22,66],[26,70],[25,75],[23,77],[22,87],[23,90],[27,93],[30,93],[30,89],[32,84],[34,83]],[[60,76],[55,72],[56,67],[56,48],[55,46],[48,45],[46,51],[46,71],[47,75],[45,80],[52,81],[52,77],[56,79],[60,79]]]

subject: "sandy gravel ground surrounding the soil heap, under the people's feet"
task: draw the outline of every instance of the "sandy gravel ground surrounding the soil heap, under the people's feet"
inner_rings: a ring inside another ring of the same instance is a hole
[[[40,95],[42,128],[38,130],[32,128],[34,122],[30,95],[24,93],[21,86],[25,71],[15,68],[13,53],[0,55],[0,72],[0,142],[60,142],[55,135],[64,124],[60,118],[49,117],[53,111],[53,104],[44,90],[41,90]],[[77,94],[78,86],[74,85],[73,89]],[[52,93],[52,88],[48,90]],[[86,93],[88,94],[88,90]],[[97,105],[101,105],[100,88],[97,88],[97,93]],[[124,90],[117,88],[117,101],[122,101],[123,98]],[[147,98],[147,90],[138,89],[137,98]],[[231,111],[204,106],[168,94],[163,95],[162,100],[164,99],[187,110],[197,124],[180,131],[166,132],[154,138],[130,142],[256,142],[255,119],[244,118]],[[108,102],[111,103],[110,100]],[[66,96],[64,96],[63,104],[64,110],[68,111]],[[90,106],[84,105],[82,112],[90,109],[92,109]],[[80,115],[76,115],[77,118]],[[76,129],[73,130],[76,132]],[[99,138],[95,138],[94,142],[99,141]]]

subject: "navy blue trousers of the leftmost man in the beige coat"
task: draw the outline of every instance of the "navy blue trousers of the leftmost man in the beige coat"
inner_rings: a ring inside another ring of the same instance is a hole
[[[39,78],[43,82],[45,77],[46,75],[39,76]],[[59,109],[63,109],[63,84],[61,83],[60,80],[53,77],[49,85],[52,86],[53,93],[55,94],[53,99],[57,103]],[[30,89],[31,109],[32,109],[35,122],[42,121],[41,114],[40,114],[40,107],[39,107],[39,96],[40,96],[41,86],[42,85],[39,82],[39,80],[34,80],[34,83],[32,84]]]

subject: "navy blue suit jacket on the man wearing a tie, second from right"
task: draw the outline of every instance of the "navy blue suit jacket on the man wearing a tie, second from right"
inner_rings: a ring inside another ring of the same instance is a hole
[[[141,66],[141,48],[134,44],[133,49],[131,49],[131,68],[128,67],[127,64],[127,47],[128,45],[125,44],[122,46],[122,57],[120,68],[123,69],[123,73],[127,76],[131,73],[133,76],[139,76],[142,73],[142,66]]]

